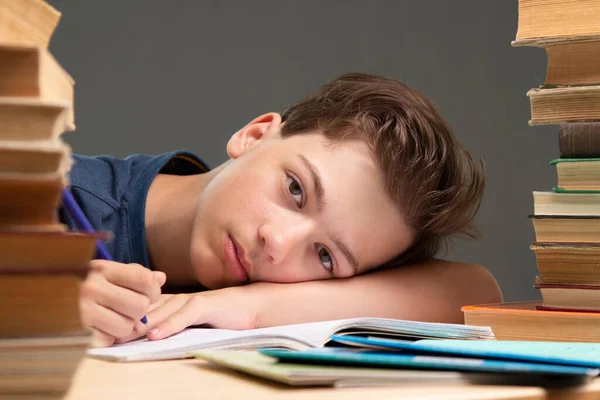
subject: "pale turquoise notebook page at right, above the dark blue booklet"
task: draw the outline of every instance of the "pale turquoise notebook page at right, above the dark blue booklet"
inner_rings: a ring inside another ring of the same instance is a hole
[[[461,354],[536,359],[600,367],[600,343],[420,340],[427,350],[447,350]]]

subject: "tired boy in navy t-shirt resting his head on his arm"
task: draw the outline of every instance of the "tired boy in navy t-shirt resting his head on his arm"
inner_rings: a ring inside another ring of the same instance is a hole
[[[205,323],[462,322],[462,305],[501,300],[485,269],[433,258],[449,235],[474,234],[484,172],[400,82],[343,75],[254,119],[227,152],[212,170],[187,152],[75,157],[76,199],[114,233],[116,261],[93,261],[82,287],[98,343]],[[196,293],[161,295],[167,277]]]

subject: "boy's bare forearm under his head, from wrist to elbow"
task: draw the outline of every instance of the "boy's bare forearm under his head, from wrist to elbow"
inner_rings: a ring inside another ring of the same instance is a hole
[[[502,299],[484,268],[441,260],[350,279],[259,282],[243,290],[258,307],[257,327],[365,316],[462,323],[461,306]]]

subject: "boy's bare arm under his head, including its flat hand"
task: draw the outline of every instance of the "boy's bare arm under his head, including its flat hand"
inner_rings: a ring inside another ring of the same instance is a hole
[[[148,338],[162,339],[202,323],[251,329],[365,316],[462,323],[461,306],[499,301],[498,284],[486,269],[431,260],[349,279],[258,282],[165,296],[148,314],[153,329]]]

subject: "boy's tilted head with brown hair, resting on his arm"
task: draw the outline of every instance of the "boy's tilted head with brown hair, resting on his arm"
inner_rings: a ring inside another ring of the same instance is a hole
[[[227,150],[192,234],[205,286],[347,277],[474,235],[483,168],[400,82],[343,75],[281,116],[250,122]]]

